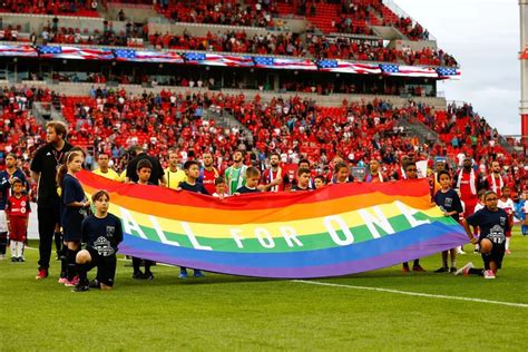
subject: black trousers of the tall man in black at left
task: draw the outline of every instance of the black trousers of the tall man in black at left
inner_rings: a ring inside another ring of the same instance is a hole
[[[48,270],[51,257],[55,227],[60,221],[59,202],[38,204],[39,221],[39,270]]]

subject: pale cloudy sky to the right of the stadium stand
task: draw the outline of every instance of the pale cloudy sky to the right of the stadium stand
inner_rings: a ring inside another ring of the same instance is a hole
[[[440,82],[448,100],[471,102],[500,134],[519,135],[517,0],[397,0],[460,62],[459,81]]]

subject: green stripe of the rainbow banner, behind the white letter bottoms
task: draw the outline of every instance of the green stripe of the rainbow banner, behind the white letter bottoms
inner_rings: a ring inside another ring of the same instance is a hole
[[[446,225],[453,225],[456,222],[451,217],[430,217],[424,213],[415,213],[413,217],[417,221],[430,221],[431,223],[442,223]],[[398,215],[388,219],[391,224],[394,233],[405,231],[411,227],[409,221],[404,215]],[[388,236],[389,234],[384,232],[381,227],[374,225],[378,229],[380,237]],[[163,243],[159,238],[157,232],[147,226],[141,226],[143,233],[149,241]],[[373,239],[373,236],[366,225],[352,226],[349,228],[354,237],[354,243],[362,243],[365,241]],[[176,242],[182,247],[194,248],[189,237],[185,234],[173,233],[166,229],[163,229],[165,237],[170,242]],[[345,235],[341,229],[336,231],[340,238],[344,238]],[[133,233],[134,236],[139,237],[137,233]],[[331,237],[329,233],[320,233],[312,235],[297,236],[297,241],[290,239],[286,241],[282,236],[273,237],[273,241],[270,242],[267,238],[258,239],[254,234],[242,234],[244,238],[241,241],[235,241],[232,237],[224,238],[213,238],[204,237],[196,235],[196,241],[202,246],[209,246],[213,251],[222,252],[234,252],[234,253],[284,253],[284,252],[302,252],[302,251],[313,251],[313,250],[324,250],[339,246]],[[272,234],[273,235],[273,234]],[[252,236],[252,237],[248,237]],[[299,245],[299,243],[302,244]],[[242,247],[239,247],[242,245]]]

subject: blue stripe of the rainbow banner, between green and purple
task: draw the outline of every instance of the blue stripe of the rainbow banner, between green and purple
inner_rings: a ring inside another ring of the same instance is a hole
[[[411,246],[417,248],[419,252],[421,243],[424,243],[424,246],[427,246],[426,243],[429,239],[442,236],[446,236],[446,245],[442,246],[442,250],[448,250],[468,242],[466,232],[460,225],[432,223],[402,231],[381,238],[362,242],[359,244],[306,252],[233,253],[203,251],[170,246],[130,235],[125,235],[123,251],[120,252],[124,254],[131,254],[135,256],[140,256],[154,261],[167,262],[167,258],[170,258],[169,263],[176,265],[190,261],[211,263],[219,266],[227,265],[241,266],[246,268],[294,268],[317,265],[332,265],[350,261],[363,261],[369,258],[375,261],[375,257],[378,256],[390,255],[391,252],[397,252]],[[300,239],[302,241],[302,237],[300,237]],[[426,251],[428,250],[427,247],[424,247],[423,250],[429,254],[429,251]],[[162,257],[164,260],[162,260]]]

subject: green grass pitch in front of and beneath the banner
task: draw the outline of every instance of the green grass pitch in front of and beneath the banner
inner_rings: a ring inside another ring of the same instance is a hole
[[[26,263],[0,262],[0,350],[527,351],[528,237],[518,229],[511,250],[495,281],[434,274],[439,255],[422,260],[427,273],[393,266],[311,281],[333,285],[211,273],[180,281],[160,265],[154,281],[134,281],[120,261],[114,291],[85,293],[57,283],[58,262],[36,281],[38,251],[28,250]],[[472,253],[458,265],[468,261],[481,266]]]

